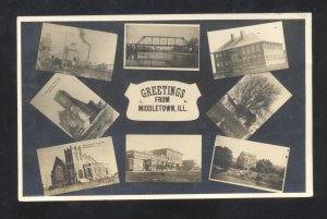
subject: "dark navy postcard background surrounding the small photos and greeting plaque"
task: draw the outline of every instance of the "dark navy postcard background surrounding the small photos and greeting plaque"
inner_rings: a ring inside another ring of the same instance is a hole
[[[69,26],[84,27],[118,34],[114,70],[111,82],[78,77],[99,97],[112,106],[120,117],[104,136],[112,136],[118,161],[120,184],[89,188],[62,195],[129,195],[129,194],[226,194],[264,193],[244,186],[208,181],[211,153],[216,135],[222,132],[206,115],[206,111],[218,101],[240,78],[214,80],[207,32],[280,20],[253,21],[162,21],[138,23],[199,24],[199,71],[124,70],[123,39],[124,22],[61,22]],[[132,23],[132,22],[128,22]],[[135,22],[133,22],[135,23]],[[282,21],[288,70],[272,74],[292,94],[292,97],[254,133],[249,141],[288,146],[291,148],[287,169],[284,192],[305,192],[305,53],[304,21]],[[49,119],[31,104],[31,99],[50,80],[53,73],[35,70],[41,23],[22,23],[22,113],[23,113],[23,195],[43,195],[36,149],[73,142]],[[196,83],[202,97],[198,99],[199,118],[190,122],[136,122],[126,119],[128,99],[124,93],[130,83],[171,80]],[[125,183],[124,153],[125,134],[198,134],[202,145],[202,183]]]

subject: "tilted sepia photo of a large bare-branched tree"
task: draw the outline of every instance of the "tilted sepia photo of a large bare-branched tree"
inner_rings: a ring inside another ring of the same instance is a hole
[[[292,95],[271,73],[243,76],[207,115],[229,137],[247,139]]]

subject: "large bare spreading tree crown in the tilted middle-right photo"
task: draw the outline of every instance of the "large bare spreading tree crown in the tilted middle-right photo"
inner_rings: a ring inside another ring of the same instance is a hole
[[[232,90],[239,117],[249,112],[264,115],[280,94],[280,88],[261,75],[247,75]]]

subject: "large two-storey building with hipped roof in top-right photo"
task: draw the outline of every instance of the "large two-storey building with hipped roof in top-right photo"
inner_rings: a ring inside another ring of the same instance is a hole
[[[264,72],[274,66],[288,66],[287,54],[280,42],[261,39],[254,33],[240,32],[213,52],[216,74],[237,74],[240,72]]]

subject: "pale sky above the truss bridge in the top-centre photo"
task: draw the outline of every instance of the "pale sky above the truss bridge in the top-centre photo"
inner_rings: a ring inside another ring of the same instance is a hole
[[[192,37],[199,39],[199,25],[177,24],[126,24],[126,42],[136,44],[143,36]]]

